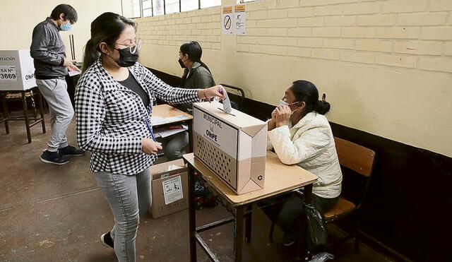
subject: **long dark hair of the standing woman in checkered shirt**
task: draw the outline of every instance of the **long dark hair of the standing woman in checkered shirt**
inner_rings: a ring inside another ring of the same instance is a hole
[[[99,44],[105,42],[114,48],[114,42],[119,38],[126,25],[136,29],[136,23],[117,13],[102,13],[91,23],[91,39],[85,45],[83,54],[83,69],[86,71],[100,56]]]

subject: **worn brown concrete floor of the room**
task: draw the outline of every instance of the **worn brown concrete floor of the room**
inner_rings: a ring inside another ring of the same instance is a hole
[[[48,114],[46,115],[48,117]],[[100,234],[113,225],[112,212],[89,171],[90,155],[72,157],[67,165],[39,160],[49,138],[40,125],[32,127],[28,144],[25,125],[0,126],[0,261],[115,261],[113,249],[100,244]],[[67,132],[75,142],[75,123]],[[161,160],[160,160],[161,161]],[[222,206],[198,210],[198,225],[229,217]],[[137,261],[189,261],[188,210],[159,219],[141,220],[136,239]],[[291,261],[268,241],[270,221],[258,210],[253,216],[252,241],[245,244],[244,261]],[[331,229],[330,229],[331,230]],[[331,230],[331,235],[340,234]],[[202,234],[220,261],[232,261],[232,225]],[[275,239],[281,237],[275,231]],[[331,249],[335,261],[394,261],[362,244],[354,254],[348,241]],[[198,247],[198,261],[209,261]]]

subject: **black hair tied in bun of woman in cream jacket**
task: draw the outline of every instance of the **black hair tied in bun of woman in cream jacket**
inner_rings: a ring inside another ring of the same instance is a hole
[[[319,114],[326,114],[330,111],[331,105],[325,101],[326,95],[323,94],[322,100],[319,100],[319,90],[313,83],[306,80],[297,80],[292,84],[290,90],[294,93],[297,101],[306,104],[305,114],[313,110]]]

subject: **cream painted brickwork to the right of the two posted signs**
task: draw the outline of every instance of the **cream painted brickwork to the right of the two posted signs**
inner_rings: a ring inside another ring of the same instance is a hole
[[[247,8],[237,52],[452,73],[451,0],[278,0]]]

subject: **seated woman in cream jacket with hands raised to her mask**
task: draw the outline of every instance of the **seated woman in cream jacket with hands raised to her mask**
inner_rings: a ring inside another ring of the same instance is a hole
[[[299,80],[287,88],[268,121],[267,149],[273,148],[284,164],[299,165],[319,177],[313,186],[312,203],[322,215],[338,202],[342,182],[333,133],[324,116],[329,109],[325,95],[319,100],[313,83]],[[288,198],[280,209],[276,222],[285,232],[285,246],[298,239],[302,213],[297,196]]]

